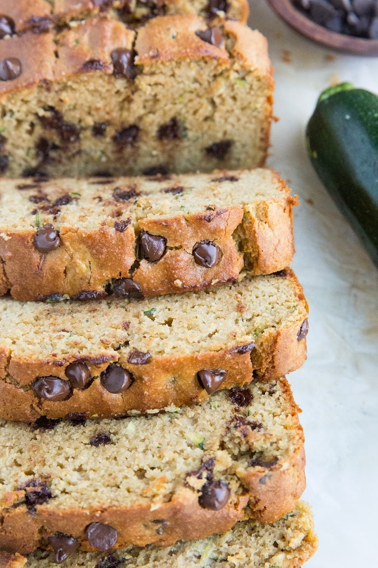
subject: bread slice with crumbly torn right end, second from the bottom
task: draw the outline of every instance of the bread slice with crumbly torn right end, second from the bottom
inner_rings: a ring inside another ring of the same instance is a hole
[[[0,421],[0,549],[63,533],[83,550],[170,546],[273,522],[305,486],[303,432],[285,379],[253,381],[150,416]]]

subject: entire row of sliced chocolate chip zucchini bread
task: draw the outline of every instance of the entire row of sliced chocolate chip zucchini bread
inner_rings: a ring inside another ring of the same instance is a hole
[[[0,567],[299,568],[266,40],[241,0],[2,11]]]

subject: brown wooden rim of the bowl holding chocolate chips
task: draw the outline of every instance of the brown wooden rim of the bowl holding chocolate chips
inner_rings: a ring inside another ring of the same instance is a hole
[[[312,22],[296,9],[290,0],[267,0],[267,3],[289,26],[317,43],[354,55],[378,55],[377,39],[364,39],[329,31]]]

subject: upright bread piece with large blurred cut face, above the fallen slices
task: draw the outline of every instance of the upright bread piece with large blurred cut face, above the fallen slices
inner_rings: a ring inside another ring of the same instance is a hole
[[[0,41],[0,175],[211,172],[263,165],[265,37],[194,14],[137,31],[96,16]]]

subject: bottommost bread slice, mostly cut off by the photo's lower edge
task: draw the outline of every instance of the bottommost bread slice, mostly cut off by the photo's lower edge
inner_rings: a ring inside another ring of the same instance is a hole
[[[56,553],[39,550],[28,558],[0,552],[0,568],[52,568],[66,554],[65,568],[299,568],[315,553],[317,538],[311,509],[299,502],[294,511],[275,523],[239,521],[224,534],[180,541],[169,548],[129,546],[105,554],[70,554],[64,541],[55,548]]]

